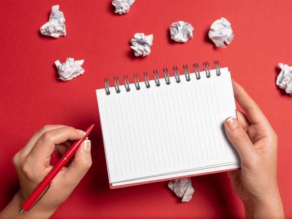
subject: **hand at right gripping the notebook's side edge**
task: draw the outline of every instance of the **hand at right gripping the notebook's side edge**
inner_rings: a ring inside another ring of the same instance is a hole
[[[246,218],[285,218],[277,182],[277,135],[258,105],[232,81],[234,97],[246,113],[227,118],[226,134],[241,158],[241,170],[227,172]]]

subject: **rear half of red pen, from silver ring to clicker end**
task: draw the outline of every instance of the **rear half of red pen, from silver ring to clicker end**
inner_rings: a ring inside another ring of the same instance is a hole
[[[59,173],[59,171],[65,166],[67,161],[61,158],[58,163],[52,168],[52,170],[45,176],[41,183],[36,187],[32,194],[22,204],[21,208],[28,211],[29,208],[34,204],[38,197],[44,192],[46,187],[52,182],[53,178]]]

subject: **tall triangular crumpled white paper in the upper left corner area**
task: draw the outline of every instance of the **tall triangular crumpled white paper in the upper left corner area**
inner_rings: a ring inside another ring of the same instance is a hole
[[[49,21],[40,27],[41,34],[58,38],[66,36],[65,17],[62,11],[59,11],[59,5],[52,6]]]

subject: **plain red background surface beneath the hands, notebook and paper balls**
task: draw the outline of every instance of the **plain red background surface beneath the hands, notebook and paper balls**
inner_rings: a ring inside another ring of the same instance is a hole
[[[284,210],[292,218],[291,101],[277,88],[279,62],[292,64],[290,1],[143,0],[126,15],[117,15],[109,0],[2,0],[0,49],[0,209],[19,190],[11,159],[29,137],[45,124],[79,129],[97,124],[91,135],[93,164],[87,175],[52,218],[243,218],[244,208],[226,173],[192,178],[192,200],[180,203],[167,182],[110,190],[95,89],[103,78],[142,71],[192,66],[218,59],[261,107],[279,138],[278,180]],[[60,4],[67,36],[42,36],[51,6]],[[210,25],[221,16],[231,22],[234,41],[215,48],[208,39]],[[176,43],[169,25],[183,20],[194,27],[194,38]],[[151,54],[134,57],[129,40],[136,32],[154,34]],[[55,60],[84,59],[85,73],[72,81],[57,79]],[[171,71],[172,72],[172,71]],[[150,74],[150,79],[153,75]],[[124,84],[124,83],[122,83]]]

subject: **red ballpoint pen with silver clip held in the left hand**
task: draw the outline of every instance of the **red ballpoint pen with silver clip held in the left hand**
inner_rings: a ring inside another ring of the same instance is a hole
[[[48,189],[51,186],[52,180],[59,173],[59,171],[65,166],[68,160],[73,156],[73,154],[77,151],[81,143],[87,138],[89,133],[91,132],[94,124],[89,126],[85,130],[85,135],[80,140],[75,141],[71,147],[67,150],[67,152],[60,158],[58,163],[53,167],[53,169],[45,176],[43,181],[36,187],[36,189],[32,192],[32,194],[26,199],[26,201],[22,204],[20,213],[24,211],[29,211],[43,196],[46,194]],[[45,190],[46,189],[46,190]],[[43,194],[42,194],[43,193]],[[42,194],[42,195],[41,195]],[[40,197],[41,195],[41,197]],[[37,199],[39,197],[39,199]],[[37,200],[36,200],[37,199]]]

